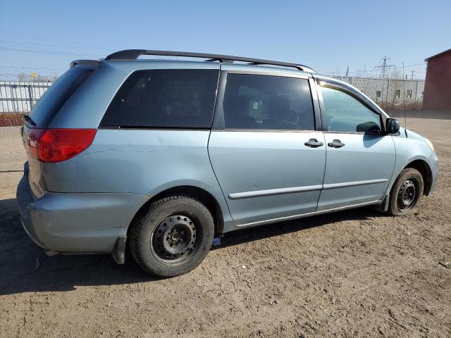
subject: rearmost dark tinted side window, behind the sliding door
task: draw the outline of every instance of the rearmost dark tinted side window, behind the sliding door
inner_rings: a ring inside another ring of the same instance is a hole
[[[118,90],[101,126],[210,128],[218,70],[137,70]]]

